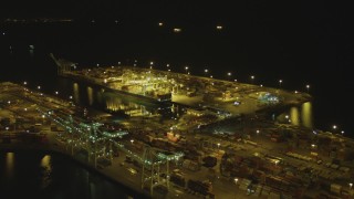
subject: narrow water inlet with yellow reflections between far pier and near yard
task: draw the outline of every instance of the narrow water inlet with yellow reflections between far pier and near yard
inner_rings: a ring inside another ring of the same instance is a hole
[[[162,105],[140,97],[107,91],[103,87],[70,78],[60,78],[60,91],[73,96],[74,103],[117,116],[163,115],[164,118],[183,115],[178,105]],[[65,97],[65,96],[64,96]]]

